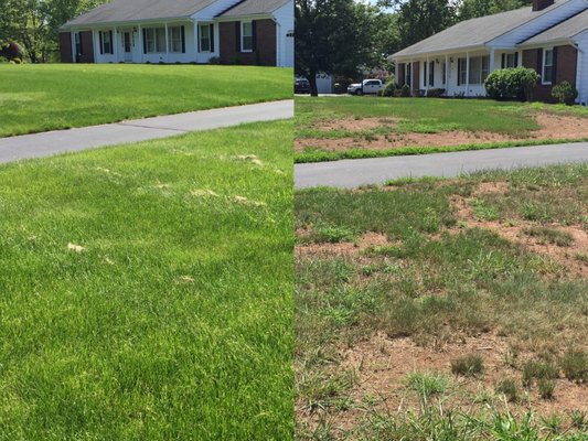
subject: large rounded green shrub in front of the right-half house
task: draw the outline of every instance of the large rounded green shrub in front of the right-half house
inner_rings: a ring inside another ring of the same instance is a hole
[[[499,100],[532,100],[538,74],[531,68],[515,67],[492,72],[485,79],[488,96]]]

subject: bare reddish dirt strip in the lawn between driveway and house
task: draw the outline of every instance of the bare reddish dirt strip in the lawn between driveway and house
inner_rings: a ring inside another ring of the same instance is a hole
[[[374,136],[368,139],[361,137],[340,139],[301,138],[295,143],[296,151],[303,151],[306,148],[318,148],[327,151],[343,151],[350,149],[386,150],[403,147],[456,147],[463,144],[482,144],[503,141],[524,141],[530,139],[581,139],[588,138],[588,121],[586,118],[573,116],[553,115],[541,112],[535,116],[541,126],[538,130],[531,132],[527,137],[513,137],[502,133],[485,131],[443,131],[438,133],[391,133],[387,136]],[[367,130],[381,127],[395,127],[396,121],[382,119],[342,119],[335,121],[320,122],[316,128],[324,131],[329,130]]]

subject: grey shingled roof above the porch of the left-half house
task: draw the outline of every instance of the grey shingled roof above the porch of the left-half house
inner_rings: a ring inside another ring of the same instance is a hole
[[[215,0],[114,0],[71,21],[63,28],[190,17]]]

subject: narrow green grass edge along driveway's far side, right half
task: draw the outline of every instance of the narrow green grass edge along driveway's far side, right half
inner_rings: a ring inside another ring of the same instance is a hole
[[[539,147],[549,144],[567,144],[577,142],[588,142],[588,138],[575,138],[575,139],[544,139],[544,140],[530,140],[530,141],[504,141],[504,142],[489,142],[489,143],[468,143],[459,146],[441,146],[441,147],[402,147],[398,149],[385,149],[385,150],[364,150],[364,149],[350,149],[344,151],[322,151],[311,150],[300,153],[295,153],[295,163],[317,163],[317,162],[333,162],[346,159],[373,159],[373,158],[391,158],[391,157],[409,157],[421,155],[431,153],[450,153],[461,151],[475,151],[475,150],[496,150],[509,149],[516,147]]]

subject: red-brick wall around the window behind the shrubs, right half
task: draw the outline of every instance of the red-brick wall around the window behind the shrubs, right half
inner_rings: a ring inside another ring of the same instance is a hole
[[[552,85],[537,84],[533,98],[538,101],[554,103],[552,96],[553,86],[569,82],[576,86],[576,72],[578,65],[578,51],[574,46],[557,46],[557,61],[555,67],[555,78]],[[534,68],[542,75],[543,49],[532,49],[523,51],[523,66]]]

